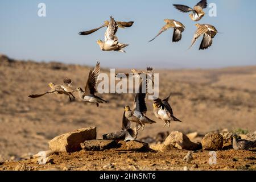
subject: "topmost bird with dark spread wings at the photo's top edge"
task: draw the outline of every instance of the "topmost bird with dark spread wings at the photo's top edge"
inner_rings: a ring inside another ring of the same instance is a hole
[[[192,11],[192,14],[189,14],[189,17],[193,21],[199,21],[205,15],[203,9],[207,8],[207,0],[201,0],[199,3],[196,4],[196,6],[194,6],[193,9],[185,5],[174,5],[174,7],[183,13],[188,13]]]

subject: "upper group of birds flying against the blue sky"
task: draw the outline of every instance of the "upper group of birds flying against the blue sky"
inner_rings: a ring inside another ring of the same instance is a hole
[[[207,8],[207,0],[201,0],[199,3],[197,3],[193,8],[185,6],[185,5],[174,5],[174,7],[183,12],[183,13],[189,13],[189,17],[193,21],[199,21],[203,16],[205,15],[203,9]],[[174,19],[164,19],[164,22],[166,24],[161,28],[158,35],[155,36],[158,37],[160,34],[162,34],[164,31],[174,28],[174,34],[172,36],[172,42],[179,42],[182,38],[182,32],[185,30],[185,26]],[[126,28],[133,26],[134,22],[116,22],[112,16],[110,16],[110,22],[106,20],[104,24],[99,28],[94,28],[93,30],[89,31],[83,31],[79,32],[80,35],[89,35],[93,32],[100,30],[100,28],[107,27],[107,30],[105,32],[105,39],[97,40],[97,44],[100,46],[102,51],[118,51],[118,52],[125,52],[123,48],[129,46],[128,44],[123,44],[118,42],[118,38],[115,35],[117,33],[118,27],[119,28]],[[195,24],[197,27],[197,30],[195,32],[195,35],[193,36],[192,44],[189,48],[195,44],[196,40],[200,38],[200,36],[203,36],[203,40],[201,41],[199,50],[204,50],[212,46],[213,38],[218,33],[216,28],[212,26],[211,24]],[[154,40],[153,38],[152,40]],[[150,40],[149,42],[151,42]]]

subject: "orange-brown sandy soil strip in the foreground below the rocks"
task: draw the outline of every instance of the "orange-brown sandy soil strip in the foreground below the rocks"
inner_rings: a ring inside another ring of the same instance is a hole
[[[122,148],[106,151],[58,153],[39,165],[37,159],[4,163],[1,170],[256,170],[256,151],[217,151],[217,164],[209,164],[209,151],[197,151],[191,163],[183,161],[187,151],[132,152]]]

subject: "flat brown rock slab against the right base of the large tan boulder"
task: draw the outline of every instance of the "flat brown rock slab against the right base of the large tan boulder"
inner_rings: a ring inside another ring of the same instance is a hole
[[[87,140],[81,143],[81,148],[89,151],[102,151],[117,147],[115,140]]]

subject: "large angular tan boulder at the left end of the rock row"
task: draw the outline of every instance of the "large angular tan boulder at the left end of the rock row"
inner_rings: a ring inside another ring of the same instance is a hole
[[[88,127],[57,136],[49,141],[49,148],[52,151],[76,152],[80,151],[80,143],[85,140],[96,139],[96,127]]]

